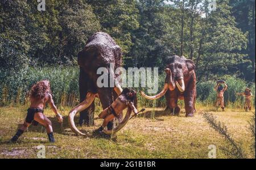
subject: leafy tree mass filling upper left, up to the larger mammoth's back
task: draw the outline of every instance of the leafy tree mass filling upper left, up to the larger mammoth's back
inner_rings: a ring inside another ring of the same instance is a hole
[[[92,7],[80,0],[46,3],[46,11],[38,11],[36,1],[0,2],[1,66],[73,65],[88,37],[101,28]]]

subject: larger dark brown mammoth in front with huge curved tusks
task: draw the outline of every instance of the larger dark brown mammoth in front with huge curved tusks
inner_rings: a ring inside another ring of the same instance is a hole
[[[81,103],[69,112],[68,122],[74,133],[85,135],[75,126],[75,114],[81,112],[79,121],[80,125],[84,119],[86,121],[93,121],[95,97],[100,99],[103,109],[106,109],[122,93],[122,88],[117,81],[118,75],[114,75],[112,71],[109,71],[110,63],[114,64],[114,69],[121,67],[121,48],[107,33],[97,32],[88,39],[85,48],[79,52],[77,62],[80,66],[79,91]],[[113,82],[117,82],[114,87],[97,86],[97,79],[101,76],[97,74],[97,70],[100,67],[108,69],[109,75],[106,75],[108,76],[108,82],[110,82],[110,79],[112,79]],[[126,116],[123,120],[119,121],[119,124],[115,128],[113,128],[113,121],[109,121],[107,125],[108,130],[105,130],[104,132],[106,134],[110,134],[121,129],[129,120],[131,111],[131,109],[127,109]],[[91,123],[93,124],[93,122]]]

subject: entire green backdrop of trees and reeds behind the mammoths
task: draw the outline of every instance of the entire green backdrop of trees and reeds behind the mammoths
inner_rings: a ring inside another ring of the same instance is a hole
[[[76,67],[77,53],[94,32],[105,31],[121,46],[126,68],[159,67],[162,71],[165,57],[182,53],[196,64],[198,101],[213,104],[213,80],[223,78],[229,86],[225,105],[242,107],[244,99],[236,92],[250,87],[255,96],[255,83],[247,83],[255,80],[255,5],[223,0],[217,1],[216,11],[210,11],[208,1],[166,2],[49,0],[46,11],[38,11],[36,1],[0,1],[2,103],[24,101],[30,86],[41,79],[52,81],[58,103],[70,97],[65,95],[77,95],[78,84],[69,87],[51,72],[65,75],[65,82],[77,83],[77,69],[71,69]],[[31,67],[36,69],[28,70]],[[161,74],[159,91],[164,78]],[[138,96],[141,104],[153,106]],[[164,105],[164,97],[155,103],[156,107]]]

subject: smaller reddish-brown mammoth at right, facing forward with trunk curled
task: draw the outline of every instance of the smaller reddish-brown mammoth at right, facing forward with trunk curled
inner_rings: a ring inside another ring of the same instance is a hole
[[[186,117],[192,117],[196,112],[196,74],[195,64],[191,59],[184,56],[172,56],[167,58],[166,81],[163,90],[155,95],[148,96],[141,91],[143,97],[149,100],[166,97],[166,110],[173,114],[179,114],[178,99],[184,100]]]

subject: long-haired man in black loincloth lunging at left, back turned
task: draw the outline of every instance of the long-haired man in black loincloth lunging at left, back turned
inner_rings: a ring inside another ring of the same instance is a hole
[[[27,109],[27,117],[22,127],[16,132],[14,137],[11,138],[11,142],[16,142],[31,123],[33,125],[38,125],[38,123],[43,125],[46,128],[49,142],[55,142],[52,131],[52,122],[43,114],[43,109],[47,103],[51,106],[51,109],[56,114],[59,122],[63,121],[63,117],[58,113],[53,102],[49,81],[40,81],[31,88],[30,108]]]

